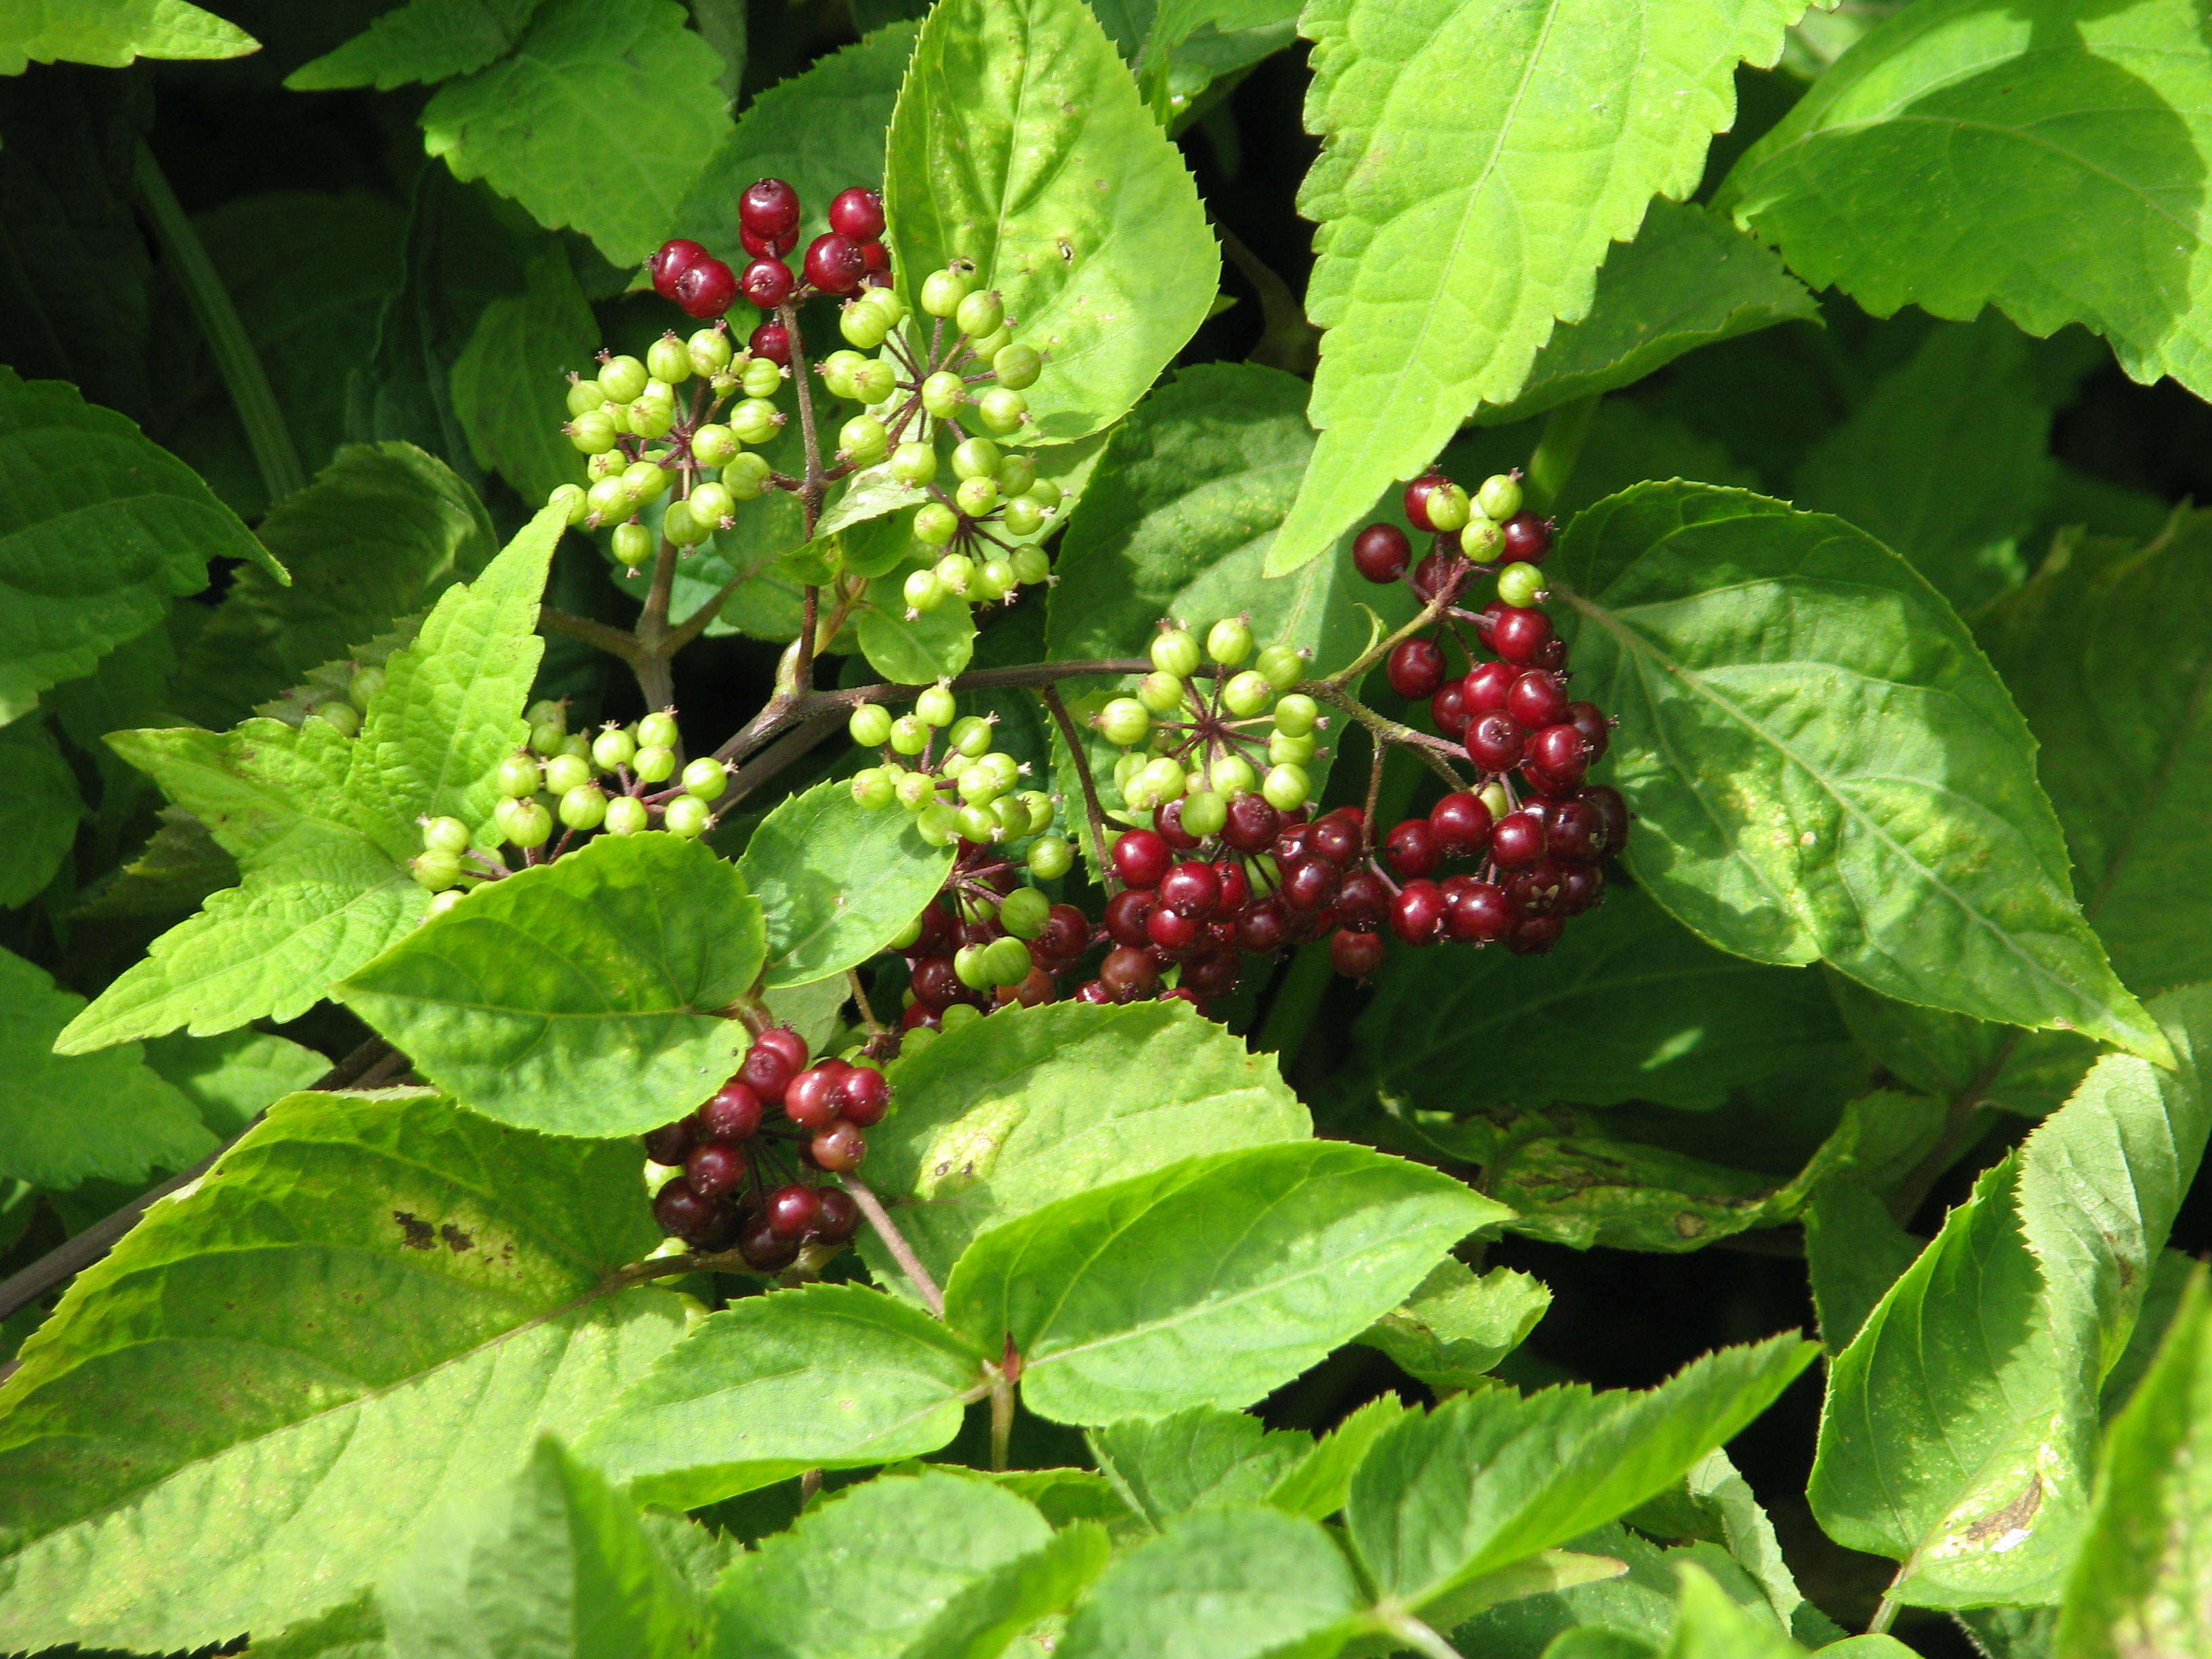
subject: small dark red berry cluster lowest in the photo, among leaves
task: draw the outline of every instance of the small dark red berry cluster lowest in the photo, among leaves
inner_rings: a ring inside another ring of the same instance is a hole
[[[759,1272],[790,1267],[810,1243],[841,1245],[860,1210],[849,1192],[807,1175],[860,1168],[863,1130],[883,1121],[889,1102],[891,1086],[874,1066],[810,1066],[805,1040],[770,1026],[699,1110],[646,1135],[646,1155],[679,1168],[653,1197],[653,1219],[695,1250],[734,1248]]]

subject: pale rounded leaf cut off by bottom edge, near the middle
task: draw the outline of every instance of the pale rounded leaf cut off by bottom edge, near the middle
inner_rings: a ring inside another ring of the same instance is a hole
[[[1367,1606],[1352,1564],[1303,1515],[1190,1515],[1115,1562],[1068,1619],[1060,1659],[1332,1655]],[[1332,1632],[1327,1646],[1301,1646]]]

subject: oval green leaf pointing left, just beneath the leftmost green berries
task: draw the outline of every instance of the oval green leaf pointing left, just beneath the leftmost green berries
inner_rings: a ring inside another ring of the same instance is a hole
[[[338,998],[416,1071],[502,1124],[635,1135],[730,1073],[761,905],[737,867],[681,836],[597,836],[469,894]]]

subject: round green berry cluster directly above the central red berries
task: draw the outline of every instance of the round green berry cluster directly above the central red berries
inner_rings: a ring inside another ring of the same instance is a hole
[[[1115,748],[1113,783],[1130,812],[1181,801],[1181,821],[1206,838],[1228,823],[1230,803],[1261,794],[1276,812],[1296,812],[1312,796],[1307,765],[1316,754],[1321,708],[1294,686],[1305,659],[1290,646],[1254,655],[1252,626],[1225,617],[1199,635],[1161,622],[1152,639],[1152,672],[1133,697],[1115,697],[1091,723]],[[1210,679],[1199,677],[1210,661]],[[1245,668],[1250,661],[1250,668]]]

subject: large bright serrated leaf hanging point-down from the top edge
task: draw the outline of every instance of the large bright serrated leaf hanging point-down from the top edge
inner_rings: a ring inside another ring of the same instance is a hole
[[[1697,186],[1734,119],[1739,60],[1770,64],[1801,0],[1318,0],[1307,122],[1321,223],[1307,314],[1321,445],[1267,555],[1321,555],[1460,416],[1511,403],[1553,319],[1590,314],[1606,243],[1652,192]]]

